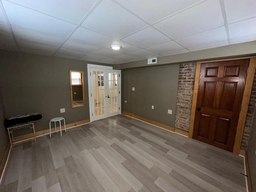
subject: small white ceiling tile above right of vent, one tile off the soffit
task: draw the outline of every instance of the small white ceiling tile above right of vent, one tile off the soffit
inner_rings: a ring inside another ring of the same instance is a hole
[[[168,52],[168,51],[184,49],[184,47],[182,47],[180,44],[178,44],[174,41],[169,41],[169,42],[166,42],[166,43],[161,43],[161,44],[158,44],[158,45],[147,47],[145,49],[149,50],[149,51],[152,51],[154,53],[161,54],[161,53]]]

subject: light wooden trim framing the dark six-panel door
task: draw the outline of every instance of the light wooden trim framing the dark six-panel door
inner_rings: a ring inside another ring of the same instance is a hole
[[[194,83],[194,93],[193,93],[191,116],[190,116],[190,128],[189,128],[189,135],[188,135],[189,138],[193,138],[193,132],[194,132],[194,120],[195,120],[195,115],[196,115],[196,102],[197,102],[197,96],[198,96],[198,86],[199,86],[201,64],[209,63],[209,62],[221,62],[221,61],[248,59],[248,58],[250,58],[250,63],[249,63],[248,74],[246,77],[246,82],[245,82],[245,87],[244,87],[244,94],[243,94],[243,98],[242,98],[242,108],[241,108],[239,119],[238,119],[238,127],[236,130],[235,145],[234,145],[234,149],[233,149],[234,154],[239,154],[241,143],[242,143],[242,137],[244,134],[244,125],[245,125],[247,110],[248,110],[248,106],[249,106],[249,102],[250,102],[250,95],[251,95],[251,91],[252,91],[254,74],[255,74],[255,70],[256,70],[256,57],[255,56],[214,60],[214,61],[206,61],[206,62],[197,62],[196,63],[196,76],[195,76],[195,83]]]

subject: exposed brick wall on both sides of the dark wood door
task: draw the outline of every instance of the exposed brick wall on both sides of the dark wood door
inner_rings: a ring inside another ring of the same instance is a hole
[[[189,132],[190,114],[192,107],[192,99],[194,92],[194,82],[196,74],[196,64],[180,64],[180,74],[178,81],[178,94],[176,105],[176,116],[174,127],[186,132]],[[252,93],[249,103],[249,108],[246,116],[246,124],[242,138],[241,149],[246,150],[250,131],[252,127],[252,120],[256,108],[256,73],[252,86]]]

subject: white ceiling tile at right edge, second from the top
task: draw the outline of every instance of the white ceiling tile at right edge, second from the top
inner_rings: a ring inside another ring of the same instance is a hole
[[[256,18],[229,24],[230,39],[240,38],[256,34]]]

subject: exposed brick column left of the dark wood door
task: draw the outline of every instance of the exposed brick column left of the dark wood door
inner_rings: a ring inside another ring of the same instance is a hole
[[[174,127],[189,132],[196,64],[180,64]]]

